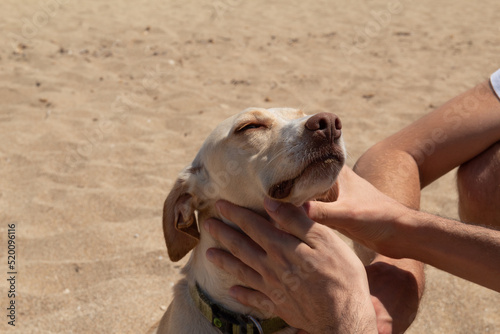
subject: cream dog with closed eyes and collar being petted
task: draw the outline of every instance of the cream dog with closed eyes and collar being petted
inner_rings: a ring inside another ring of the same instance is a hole
[[[266,318],[263,310],[229,297],[229,288],[240,282],[208,262],[206,250],[218,245],[198,222],[217,217],[231,224],[215,209],[219,199],[266,215],[266,196],[296,206],[324,198],[344,161],[341,123],[334,114],[249,108],[220,123],[165,201],[170,259],[194,251],[156,333],[296,333],[281,319]]]

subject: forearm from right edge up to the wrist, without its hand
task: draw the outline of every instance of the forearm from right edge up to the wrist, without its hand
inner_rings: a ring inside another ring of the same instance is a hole
[[[394,245],[401,257],[500,292],[500,231],[413,210],[401,219]]]

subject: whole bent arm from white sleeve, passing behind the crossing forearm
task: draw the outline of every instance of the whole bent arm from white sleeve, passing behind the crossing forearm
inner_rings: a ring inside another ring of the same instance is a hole
[[[354,170],[384,194],[419,209],[420,189],[498,141],[499,128],[500,103],[486,81],[374,145]],[[395,265],[392,275],[398,279],[394,284],[384,284],[384,279],[370,270],[384,263]],[[374,304],[381,309],[377,312],[382,314],[378,316],[379,329],[404,331],[412,321],[408,315],[416,312],[423,293],[423,266],[376,254],[367,270]],[[413,288],[407,290],[409,286]],[[413,302],[404,305],[405,300]]]

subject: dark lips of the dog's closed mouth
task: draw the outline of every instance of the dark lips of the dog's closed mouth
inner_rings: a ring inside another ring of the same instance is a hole
[[[335,166],[342,166],[343,163],[343,156],[335,154],[327,154],[313,159],[296,177],[272,185],[269,188],[268,195],[275,199],[287,198],[290,196],[295,183],[305,174],[308,174],[310,171],[315,171],[324,176],[331,175],[335,172]]]

